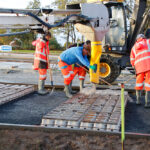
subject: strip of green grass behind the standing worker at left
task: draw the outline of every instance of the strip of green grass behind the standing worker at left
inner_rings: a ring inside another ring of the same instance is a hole
[[[7,52],[7,53],[30,53],[33,54],[35,52],[35,50],[12,50],[11,52]],[[1,52],[3,53],[3,52]],[[51,55],[60,55],[62,53],[61,50],[50,50],[50,54]]]

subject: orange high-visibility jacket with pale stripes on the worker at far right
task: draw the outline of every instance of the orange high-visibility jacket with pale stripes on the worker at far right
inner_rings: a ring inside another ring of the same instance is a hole
[[[150,70],[150,39],[140,38],[133,46],[130,62],[136,74]]]

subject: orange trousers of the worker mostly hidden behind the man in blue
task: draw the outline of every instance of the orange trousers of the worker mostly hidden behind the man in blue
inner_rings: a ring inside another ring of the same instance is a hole
[[[86,71],[82,67],[74,67],[73,72],[74,76],[78,74],[79,80],[85,79]]]

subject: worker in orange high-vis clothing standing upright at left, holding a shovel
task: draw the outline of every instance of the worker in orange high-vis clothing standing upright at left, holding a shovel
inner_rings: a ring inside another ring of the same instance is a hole
[[[39,72],[39,82],[38,82],[38,93],[45,95],[48,93],[44,89],[45,80],[47,77],[47,56],[49,55],[49,40],[51,38],[51,33],[46,32],[43,38],[34,41],[32,44],[36,46],[35,56],[34,56],[34,70]]]

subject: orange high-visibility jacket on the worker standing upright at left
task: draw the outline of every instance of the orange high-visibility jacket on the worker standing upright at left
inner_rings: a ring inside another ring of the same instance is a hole
[[[49,55],[49,41],[38,39],[36,41],[36,50],[34,55],[34,70],[48,69],[47,55]]]

